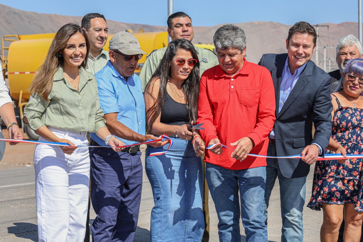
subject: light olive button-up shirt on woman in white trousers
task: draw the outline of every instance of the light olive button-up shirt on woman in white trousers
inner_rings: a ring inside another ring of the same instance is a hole
[[[49,102],[33,93],[24,108],[24,116],[33,130],[47,126],[93,133],[106,127],[96,78],[83,67],[79,68],[78,91],[65,80],[62,67],[58,67],[48,99]]]

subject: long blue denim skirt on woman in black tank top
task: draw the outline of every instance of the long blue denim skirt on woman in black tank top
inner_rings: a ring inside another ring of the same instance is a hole
[[[200,242],[204,231],[202,161],[196,157],[190,140],[171,139],[173,146],[165,155],[150,157],[150,152],[160,148],[146,149],[145,171],[155,202],[150,239]]]

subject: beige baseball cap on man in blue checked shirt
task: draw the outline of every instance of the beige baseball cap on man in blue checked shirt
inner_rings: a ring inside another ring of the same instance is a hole
[[[146,54],[139,44],[137,38],[127,31],[115,34],[110,40],[110,50],[119,50],[125,55]]]

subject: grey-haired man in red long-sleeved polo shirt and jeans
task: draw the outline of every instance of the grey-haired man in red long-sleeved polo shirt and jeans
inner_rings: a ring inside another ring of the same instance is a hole
[[[246,61],[246,35],[227,24],[213,37],[219,65],[200,81],[197,123],[208,144],[222,143],[205,153],[205,177],[219,218],[220,241],[240,241],[239,216],[246,241],[267,242],[264,222],[268,135],[275,121],[275,94],[269,71]],[[241,207],[238,190],[240,191]]]

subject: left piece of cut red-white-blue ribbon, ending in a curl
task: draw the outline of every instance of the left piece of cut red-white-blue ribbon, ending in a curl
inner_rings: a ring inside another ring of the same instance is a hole
[[[150,156],[155,156],[155,155],[163,155],[165,152],[168,151],[168,149],[171,147],[171,145],[173,144],[173,142],[171,141],[171,139],[169,138],[168,135],[163,134],[159,136],[159,139],[156,140],[152,140],[149,139],[143,143],[138,143],[138,144],[129,144],[129,145],[123,145],[123,146],[92,146],[92,145],[70,145],[67,143],[60,143],[60,142],[50,142],[50,141],[34,141],[34,140],[19,140],[19,139],[0,139],[0,141],[6,141],[6,142],[14,142],[14,143],[31,143],[31,144],[47,144],[47,145],[55,145],[55,146],[69,146],[69,147],[95,147],[95,148],[99,148],[99,147],[104,147],[104,148],[114,148],[114,147],[121,147],[121,148],[126,148],[126,147],[131,147],[131,146],[135,146],[135,145],[142,145],[142,144],[150,144],[150,143],[155,143],[155,142],[159,142],[162,141],[163,139],[168,139],[170,140],[169,142],[169,146],[165,151],[160,151],[160,152],[152,152],[150,153]]]

